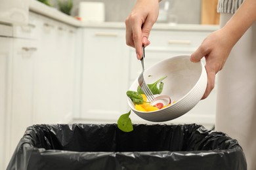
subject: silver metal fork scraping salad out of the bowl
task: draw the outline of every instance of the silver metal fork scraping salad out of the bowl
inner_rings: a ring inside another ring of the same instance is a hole
[[[148,99],[148,101],[150,101],[150,103],[155,99],[153,93],[151,92],[150,88],[148,88],[148,85],[146,84],[145,80],[144,80],[144,70],[145,70],[145,66],[144,66],[144,58],[145,58],[145,49],[144,46],[142,46],[142,58],[140,59],[141,61],[141,65],[142,65],[142,73],[140,73],[140,76],[138,78],[138,82],[139,82],[139,86],[142,90],[142,92],[144,92],[144,94],[146,95],[146,98]]]

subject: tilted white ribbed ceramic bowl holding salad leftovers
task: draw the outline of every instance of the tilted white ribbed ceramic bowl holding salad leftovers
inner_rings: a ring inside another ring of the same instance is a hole
[[[167,76],[162,82],[161,95],[169,95],[171,106],[164,109],[142,112],[135,110],[131,99],[128,97],[128,105],[140,118],[151,122],[165,122],[182,116],[192,109],[202,98],[207,85],[207,73],[202,62],[192,63],[189,55],[174,56],[163,59],[144,71],[144,79],[147,84],[152,84],[163,76]],[[136,79],[129,90],[137,91]]]

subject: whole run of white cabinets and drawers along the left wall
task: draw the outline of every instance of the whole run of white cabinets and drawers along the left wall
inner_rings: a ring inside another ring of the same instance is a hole
[[[26,127],[69,123],[74,110],[77,29],[32,12],[30,15],[30,24],[15,25],[10,38],[0,37],[3,169]]]

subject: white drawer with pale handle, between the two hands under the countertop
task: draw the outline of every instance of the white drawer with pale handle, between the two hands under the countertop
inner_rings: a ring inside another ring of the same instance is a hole
[[[209,31],[158,31],[153,29],[149,37],[151,42],[150,47],[157,49],[198,48],[209,33]]]

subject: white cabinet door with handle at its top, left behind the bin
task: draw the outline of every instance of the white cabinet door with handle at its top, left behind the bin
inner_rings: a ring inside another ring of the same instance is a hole
[[[33,124],[33,61],[36,50],[36,41],[14,39],[12,76],[10,77],[12,84],[11,128],[8,139],[11,154],[26,131],[26,127]]]

